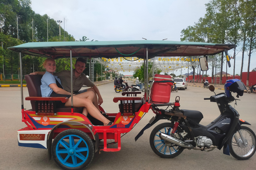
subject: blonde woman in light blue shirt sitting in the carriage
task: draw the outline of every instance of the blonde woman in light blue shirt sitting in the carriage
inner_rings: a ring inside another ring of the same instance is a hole
[[[53,73],[56,70],[56,63],[53,58],[47,58],[44,61],[44,68],[46,69],[45,74],[41,79],[41,94],[42,97],[68,97],[66,103],[60,101],[56,102],[57,107],[70,107],[71,106],[71,93],[63,90],[61,81]],[[99,110],[93,105],[94,93],[88,91],[86,94],[73,94],[73,106],[84,107],[83,115],[87,116],[88,112],[92,117],[101,121],[104,126],[110,126],[113,122],[105,118]]]

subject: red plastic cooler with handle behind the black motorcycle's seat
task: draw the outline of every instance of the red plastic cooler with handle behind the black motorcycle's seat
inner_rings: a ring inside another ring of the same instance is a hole
[[[158,81],[172,80],[172,77],[169,75],[155,74],[153,79],[155,80],[155,82],[151,88],[151,100],[153,102],[168,103],[170,101],[171,86],[173,85],[173,83]]]

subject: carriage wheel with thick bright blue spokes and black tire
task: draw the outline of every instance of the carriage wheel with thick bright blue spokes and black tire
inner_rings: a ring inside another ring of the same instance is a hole
[[[78,170],[87,167],[94,156],[92,139],[78,129],[59,133],[52,143],[52,157],[63,169]]]

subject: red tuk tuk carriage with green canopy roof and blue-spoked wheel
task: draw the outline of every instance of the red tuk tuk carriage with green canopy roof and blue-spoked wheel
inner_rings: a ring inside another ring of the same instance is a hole
[[[20,68],[22,77],[22,54],[52,57],[54,59],[70,57],[86,58],[117,58],[124,55],[136,56],[144,59],[145,84],[148,84],[148,60],[155,56],[200,56],[213,55],[224,50],[234,48],[232,44],[212,44],[201,42],[175,42],[175,41],[109,41],[109,42],[30,42],[8,49],[20,52]],[[122,53],[121,53],[122,52]],[[72,70],[72,64],[71,70]],[[29,79],[31,82],[29,83]],[[33,80],[38,79],[36,82]],[[118,113],[108,113],[108,119],[114,122],[111,126],[101,126],[92,123],[93,120],[79,112],[79,108],[73,107],[71,96],[71,108],[56,108],[54,101],[65,103],[65,97],[41,97],[40,77],[27,75],[27,86],[32,109],[24,110],[23,86],[21,81],[22,122],[25,128],[18,130],[18,145],[48,149],[48,158],[51,155],[54,161],[63,169],[84,169],[92,161],[94,152],[98,149],[106,152],[119,151],[121,149],[121,134],[129,132],[135,124],[151,108],[156,114],[150,123],[135,137],[137,140],[143,131],[160,119],[167,119],[161,115],[161,110],[156,106],[179,107],[179,100],[175,103],[156,103],[149,98],[150,89],[145,86],[144,97],[137,97],[140,92],[123,92],[122,97],[115,97],[113,102],[119,104]],[[71,74],[72,84],[72,74]],[[153,84],[151,85],[152,88]],[[31,92],[33,91],[33,92]],[[73,89],[71,87],[71,93]],[[128,96],[129,95],[129,96]],[[132,96],[133,95],[133,96]],[[152,106],[154,105],[154,108]],[[102,109],[102,108],[101,108]],[[52,142],[52,139],[53,142]],[[99,140],[104,140],[104,145],[99,146]],[[107,143],[107,139],[114,142]],[[93,143],[93,141],[95,143]],[[117,148],[107,146],[117,143]]]

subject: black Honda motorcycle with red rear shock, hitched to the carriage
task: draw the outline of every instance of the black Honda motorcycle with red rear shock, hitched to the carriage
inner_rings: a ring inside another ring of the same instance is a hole
[[[214,86],[210,85],[209,90],[214,92]],[[214,92],[215,93],[215,92]],[[144,127],[135,137],[137,140],[143,131],[158,120],[167,119],[170,123],[162,123],[156,126],[150,134],[150,146],[152,150],[163,158],[173,158],[187,149],[212,151],[215,148],[221,149],[223,153],[231,155],[238,160],[246,160],[255,153],[255,133],[246,126],[248,122],[239,119],[239,114],[228,103],[239,100],[233,96],[227,97],[226,93],[215,94],[210,98],[204,98],[216,102],[220,116],[207,126],[200,125],[203,114],[194,110],[180,110],[179,96],[175,103],[171,103],[172,109],[159,109],[167,104],[153,104],[152,110],[156,114],[149,124]]]

